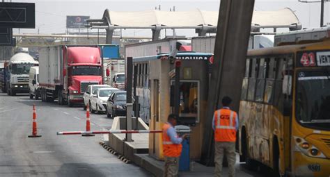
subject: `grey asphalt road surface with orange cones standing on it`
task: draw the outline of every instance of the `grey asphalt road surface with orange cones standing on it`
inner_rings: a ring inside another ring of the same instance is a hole
[[[30,138],[33,104],[36,104],[38,134]],[[109,129],[112,119],[91,114],[92,130]],[[152,176],[134,164],[125,164],[98,143],[102,135],[56,135],[57,131],[85,130],[86,111],[31,100],[26,94],[0,93],[0,177],[2,176]],[[264,176],[236,165],[237,176]],[[207,174],[213,176],[213,168]],[[226,172],[227,169],[225,168]],[[182,176],[195,176],[181,173]],[[266,172],[267,174],[267,172]]]

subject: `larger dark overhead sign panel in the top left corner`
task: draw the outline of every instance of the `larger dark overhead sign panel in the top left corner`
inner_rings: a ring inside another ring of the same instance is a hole
[[[35,3],[1,3],[0,26],[5,28],[35,28]]]

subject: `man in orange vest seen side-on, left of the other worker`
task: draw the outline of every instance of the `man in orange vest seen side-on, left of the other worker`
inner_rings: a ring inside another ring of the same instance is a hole
[[[163,130],[163,153],[165,156],[164,176],[178,176],[179,171],[179,158],[182,151],[182,140],[187,135],[178,137],[174,126],[178,123],[176,115],[168,115],[167,122],[164,124]]]

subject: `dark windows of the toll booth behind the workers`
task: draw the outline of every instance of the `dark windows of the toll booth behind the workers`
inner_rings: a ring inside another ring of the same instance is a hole
[[[171,106],[174,112],[174,81],[171,82]],[[179,117],[182,124],[195,124],[199,121],[199,83],[180,81]]]

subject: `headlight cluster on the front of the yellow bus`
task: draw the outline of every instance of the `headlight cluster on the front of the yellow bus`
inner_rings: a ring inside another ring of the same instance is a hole
[[[296,150],[304,153],[305,155],[312,158],[326,158],[325,155],[317,149],[313,144],[307,142],[302,137],[294,136],[294,143],[296,144]]]

